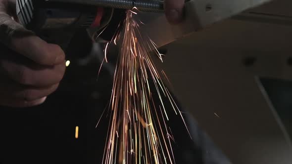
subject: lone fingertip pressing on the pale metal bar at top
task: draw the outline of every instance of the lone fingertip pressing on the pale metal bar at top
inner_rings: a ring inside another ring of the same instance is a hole
[[[172,24],[179,23],[183,18],[185,0],[164,0],[165,14]]]

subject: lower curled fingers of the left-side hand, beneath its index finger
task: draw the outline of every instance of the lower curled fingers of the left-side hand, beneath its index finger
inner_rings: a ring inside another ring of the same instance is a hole
[[[65,60],[45,66],[1,45],[0,50],[0,105],[39,105],[57,89],[65,72]]]

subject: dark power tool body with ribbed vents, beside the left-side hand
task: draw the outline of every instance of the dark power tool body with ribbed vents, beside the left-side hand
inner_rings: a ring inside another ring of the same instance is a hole
[[[95,21],[97,7],[47,0],[17,0],[16,11],[23,26],[65,51],[74,34],[87,29]]]

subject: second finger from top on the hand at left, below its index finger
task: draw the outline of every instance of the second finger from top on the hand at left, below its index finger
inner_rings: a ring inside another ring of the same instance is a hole
[[[57,84],[65,73],[65,60],[53,66],[43,66],[11,51],[2,57],[0,66],[4,76],[19,84],[35,87]]]

